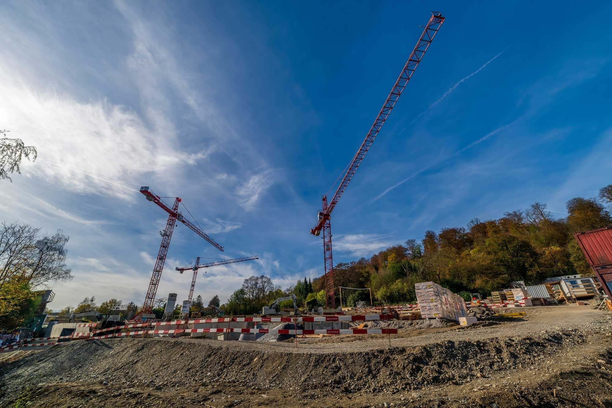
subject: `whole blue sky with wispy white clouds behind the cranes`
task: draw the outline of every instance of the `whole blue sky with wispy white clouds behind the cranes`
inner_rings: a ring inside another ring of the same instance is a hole
[[[446,21],[332,215],[336,262],[610,184],[612,4],[3,2],[0,128],[39,160],[0,218],[70,236],[50,306],[143,302],[166,217],[141,185],[226,248],[177,226],[159,297],[187,297],[196,256],[260,258],[201,275],[205,300],[323,273],[321,195],[430,9]]]

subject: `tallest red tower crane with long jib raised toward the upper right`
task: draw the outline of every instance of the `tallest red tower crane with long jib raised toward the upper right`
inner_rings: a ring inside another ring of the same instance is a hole
[[[321,231],[323,231],[323,252],[324,252],[324,264],[325,264],[325,292],[326,292],[326,307],[335,308],[335,297],[334,297],[334,264],[332,261],[332,229],[330,225],[330,215],[334,210],[336,204],[338,204],[338,200],[342,196],[342,193],[346,190],[349,182],[353,178],[353,175],[357,171],[357,168],[361,164],[361,161],[364,160],[365,154],[370,149],[371,144],[374,142],[376,135],[378,135],[379,130],[384,125],[384,122],[389,117],[391,110],[395,106],[395,102],[397,102],[398,98],[403,92],[404,88],[408,84],[412,73],[416,70],[419,62],[425,55],[425,51],[431,44],[433,37],[435,37],[438,29],[444,22],[444,17],[438,12],[431,12],[431,18],[429,19],[427,26],[423,30],[423,34],[421,34],[417,45],[412,50],[410,57],[408,58],[408,62],[404,65],[404,68],[401,70],[399,78],[395,81],[395,85],[392,87],[387,100],[385,101],[383,108],[376,116],[376,120],[374,124],[370,128],[370,131],[365,136],[364,142],[357,150],[357,153],[353,157],[353,161],[348,166],[344,178],[340,182],[338,186],[338,190],[336,190],[334,197],[328,203],[327,195],[324,195],[323,200],[323,209],[319,210],[317,214],[318,221],[315,225],[315,228],[310,229],[310,234],[315,236],[319,236]],[[332,186],[333,187],[333,186]]]

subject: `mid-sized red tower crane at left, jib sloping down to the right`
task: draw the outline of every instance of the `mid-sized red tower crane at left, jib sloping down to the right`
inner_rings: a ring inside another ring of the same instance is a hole
[[[154,202],[168,213],[168,222],[166,223],[166,229],[164,231],[160,231],[160,235],[162,236],[162,245],[159,247],[157,261],[155,261],[155,266],[153,267],[153,274],[151,275],[149,289],[147,290],[147,295],[144,298],[143,310],[136,314],[134,317],[135,320],[141,320],[143,314],[151,313],[153,302],[155,300],[155,294],[157,293],[157,286],[159,286],[159,281],[162,277],[163,264],[166,262],[166,254],[168,253],[168,247],[170,247],[170,239],[172,238],[172,232],[174,231],[174,226],[176,225],[177,220],[181,221],[187,226],[187,228],[191,229],[200,237],[207,240],[207,242],[209,242],[213,247],[217,248],[219,251],[223,251],[223,247],[216,243],[211,237],[207,236],[206,232],[202,231],[200,228],[193,225],[189,220],[186,220],[185,217],[183,217],[182,213],[179,212],[179,202],[181,202],[180,198],[175,197],[174,204],[169,206],[160,196],[149,190],[149,187],[140,187],[140,192],[143,193],[147,200]]]

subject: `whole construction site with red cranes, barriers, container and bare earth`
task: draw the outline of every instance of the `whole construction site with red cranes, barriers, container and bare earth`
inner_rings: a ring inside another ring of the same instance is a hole
[[[53,292],[42,294],[40,317],[0,346],[0,406],[611,407],[612,226],[574,234],[592,273],[513,281],[471,299],[419,281],[411,287],[416,303],[385,304],[369,287],[334,283],[332,212],[418,80],[412,75],[426,51],[436,52],[444,21],[439,12],[424,21],[335,193],[322,197],[310,234],[323,241],[324,305],[306,308],[288,294],[252,315],[215,305],[194,313],[198,272],[259,259],[198,257],[172,272],[192,278],[185,300],[170,293],[163,316],[155,314],[155,300],[168,292],[160,281],[176,226],[225,248],[190,221],[187,207],[188,216],[182,212],[181,198],[143,186],[139,197],[167,221],[142,306],[47,316]],[[351,291],[369,300],[348,306]]]

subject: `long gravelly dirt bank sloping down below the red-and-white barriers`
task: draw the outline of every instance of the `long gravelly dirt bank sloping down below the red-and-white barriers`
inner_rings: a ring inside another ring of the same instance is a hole
[[[223,381],[247,387],[299,387],[317,384],[351,390],[409,390],[461,381],[531,364],[564,343],[583,341],[577,331],[559,330],[542,338],[446,341],[417,347],[392,347],[341,354],[295,354],[211,347],[181,339],[105,339],[78,341],[11,363],[0,371],[11,390],[63,377],[72,381],[124,382],[185,387]],[[283,373],[282,376],[270,373]]]

